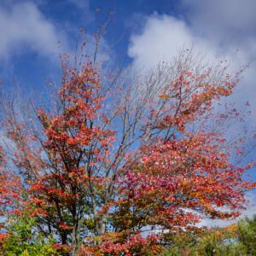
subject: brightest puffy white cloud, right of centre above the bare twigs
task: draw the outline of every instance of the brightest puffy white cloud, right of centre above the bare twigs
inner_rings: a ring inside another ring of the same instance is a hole
[[[168,15],[150,15],[143,32],[132,34],[128,55],[139,67],[150,67],[159,61],[172,61],[178,49],[212,50],[211,43],[195,36],[183,20]]]

